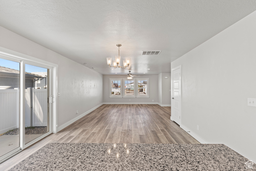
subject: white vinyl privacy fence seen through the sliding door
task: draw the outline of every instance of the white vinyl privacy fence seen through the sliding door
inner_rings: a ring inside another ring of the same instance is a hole
[[[19,127],[19,88],[0,89],[0,134]],[[47,126],[47,89],[25,90],[25,127]]]

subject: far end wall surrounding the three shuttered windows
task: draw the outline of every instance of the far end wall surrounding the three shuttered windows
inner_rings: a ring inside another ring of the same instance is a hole
[[[103,102],[104,103],[145,103],[157,104],[158,75],[141,75],[139,78],[149,78],[149,98],[109,98],[109,78],[125,78],[120,75],[103,75]],[[129,101],[131,99],[131,101]],[[154,100],[154,102],[152,101]]]

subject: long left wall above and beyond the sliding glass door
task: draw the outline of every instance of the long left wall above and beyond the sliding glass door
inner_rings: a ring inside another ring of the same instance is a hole
[[[58,125],[65,123],[103,102],[103,76],[50,49],[0,27],[0,47],[58,64]],[[97,83],[97,88],[94,87]],[[76,114],[78,110],[79,114]],[[66,124],[67,125],[67,124]],[[63,127],[62,127],[63,128]]]

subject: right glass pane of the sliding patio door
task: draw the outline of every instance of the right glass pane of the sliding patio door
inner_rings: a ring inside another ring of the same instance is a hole
[[[25,144],[49,132],[47,70],[25,64]]]

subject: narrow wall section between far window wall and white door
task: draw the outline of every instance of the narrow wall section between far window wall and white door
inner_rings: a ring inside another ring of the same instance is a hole
[[[171,106],[171,73],[162,73],[162,106]],[[168,77],[165,79],[164,77]]]

